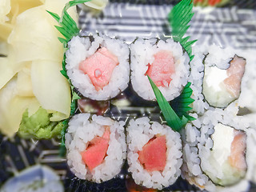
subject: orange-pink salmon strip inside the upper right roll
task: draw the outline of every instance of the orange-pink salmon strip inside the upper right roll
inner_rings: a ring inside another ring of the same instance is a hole
[[[242,76],[245,72],[246,60],[234,55],[230,67],[226,70],[228,78],[224,80],[226,89],[234,98],[238,98],[241,90]]]

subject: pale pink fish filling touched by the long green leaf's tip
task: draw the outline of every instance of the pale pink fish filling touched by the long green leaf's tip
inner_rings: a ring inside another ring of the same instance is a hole
[[[175,73],[174,56],[171,51],[160,50],[154,54],[154,62],[147,66],[146,74],[156,86],[169,86],[172,80],[170,76]]]

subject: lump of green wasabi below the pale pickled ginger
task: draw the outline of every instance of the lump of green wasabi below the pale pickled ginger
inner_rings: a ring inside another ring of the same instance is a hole
[[[40,107],[37,112],[29,116],[28,110],[22,114],[22,122],[18,134],[22,138],[50,139],[61,136],[62,122],[50,122],[52,114]]]

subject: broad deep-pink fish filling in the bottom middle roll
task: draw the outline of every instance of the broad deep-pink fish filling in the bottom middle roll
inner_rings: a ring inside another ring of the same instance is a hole
[[[138,151],[138,160],[147,171],[162,171],[166,166],[166,136],[150,139]]]

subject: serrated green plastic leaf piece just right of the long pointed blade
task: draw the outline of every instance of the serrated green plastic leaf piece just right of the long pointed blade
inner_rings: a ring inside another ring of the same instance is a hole
[[[188,82],[182,90],[182,94],[180,94],[178,98],[174,98],[174,100],[170,102],[170,106],[174,108],[174,111],[176,112],[176,114],[178,114],[179,118],[182,118],[182,116],[184,115],[189,121],[194,121],[196,118],[193,118],[188,114],[188,111],[192,110],[192,107],[190,107],[190,105],[194,102],[194,99],[190,98],[191,94],[193,93],[190,85],[191,82]]]

